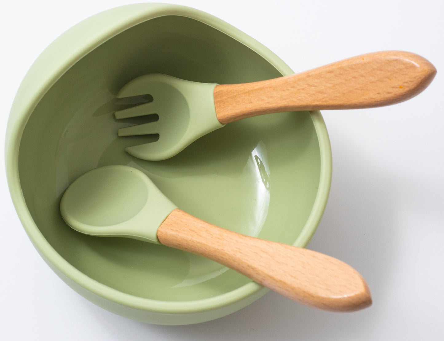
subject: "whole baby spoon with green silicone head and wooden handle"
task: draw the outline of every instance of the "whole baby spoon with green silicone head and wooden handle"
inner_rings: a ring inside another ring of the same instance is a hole
[[[135,238],[192,252],[305,305],[353,311],[372,302],[365,280],[344,262],[204,222],[179,210],[132,167],[106,166],[83,174],[63,194],[60,212],[84,234]]]

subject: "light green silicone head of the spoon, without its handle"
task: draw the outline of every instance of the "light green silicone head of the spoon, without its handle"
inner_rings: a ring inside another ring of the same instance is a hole
[[[60,201],[62,218],[74,230],[157,244],[159,226],[176,208],[145,173],[122,165],[82,174]]]

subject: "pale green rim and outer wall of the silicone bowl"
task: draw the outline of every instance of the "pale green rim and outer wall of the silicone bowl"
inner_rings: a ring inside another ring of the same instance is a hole
[[[6,172],[10,194],[20,221],[32,244],[48,265],[55,267],[63,276],[91,293],[120,305],[156,313],[197,313],[231,305],[251,298],[253,295],[259,298],[268,289],[258,283],[249,282],[228,293],[195,301],[160,301],[113,289],[83,274],[57,253],[33,221],[20,188],[18,165],[20,140],[29,116],[49,88],[74,63],[100,44],[128,28],[161,16],[184,16],[198,20],[246,45],[266,59],[282,75],[294,73],[288,65],[264,45],[206,12],[173,4],[130,4],[108,9],[68,29],[54,40],[30,67],[17,91],[8,119],[5,143]],[[94,30],[89,30],[88,35],[79,34],[79,32],[91,28],[92,25],[94,25]],[[66,44],[67,41],[69,44]],[[54,54],[55,51],[57,54]],[[310,111],[310,116],[318,137],[321,170],[319,188],[309,218],[301,230],[301,234],[293,243],[294,246],[300,247],[305,247],[309,243],[321,221],[329,197],[332,174],[331,146],[325,122],[319,111]]]

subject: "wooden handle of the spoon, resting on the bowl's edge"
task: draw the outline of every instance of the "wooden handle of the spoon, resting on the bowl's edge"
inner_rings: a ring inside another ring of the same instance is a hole
[[[369,288],[351,266],[312,250],[249,237],[173,210],[159,226],[159,242],[210,258],[282,295],[330,311],[372,303]]]

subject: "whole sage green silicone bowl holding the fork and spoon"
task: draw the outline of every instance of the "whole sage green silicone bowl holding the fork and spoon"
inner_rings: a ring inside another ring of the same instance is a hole
[[[192,8],[134,4],[99,13],[55,40],[20,85],[6,136],[10,192],[40,255],[88,300],[155,324],[213,320],[267,289],[180,250],[80,234],[60,216],[63,191],[95,167],[129,165],[190,214],[305,246],[329,194],[329,138],[319,112],[279,113],[230,123],[165,161],[136,159],[124,148],[153,137],[117,137],[119,127],[146,118],[116,120],[113,112],[129,104],[115,95],[148,73],[243,83],[293,71],[238,29]]]

